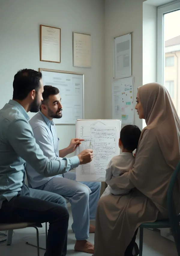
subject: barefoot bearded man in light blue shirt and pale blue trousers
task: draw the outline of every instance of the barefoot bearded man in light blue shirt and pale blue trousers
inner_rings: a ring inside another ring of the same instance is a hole
[[[29,121],[32,126],[36,142],[49,159],[62,159],[75,151],[79,145],[79,139],[72,139],[70,145],[62,150],[58,149],[58,136],[53,118],[62,117],[62,105],[58,88],[44,86],[41,111]],[[89,219],[95,219],[97,203],[100,196],[100,182],[76,182],[76,174],[73,172],[63,175],[44,177],[30,164],[26,165],[29,184],[32,188],[43,191],[55,192],[58,195],[69,198],[71,204],[75,233],[76,251],[94,253],[94,245],[86,239],[89,232],[93,233],[95,227],[89,225]],[[65,199],[64,199],[65,200]]]

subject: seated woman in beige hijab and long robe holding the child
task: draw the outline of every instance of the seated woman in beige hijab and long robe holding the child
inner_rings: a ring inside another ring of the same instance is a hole
[[[135,108],[147,124],[141,133],[135,164],[110,184],[113,189],[132,192],[99,200],[94,256],[132,256],[140,224],[168,218],[167,189],[180,160],[179,117],[167,89],[158,83],[138,88]],[[174,193],[178,212],[179,183],[178,180]]]

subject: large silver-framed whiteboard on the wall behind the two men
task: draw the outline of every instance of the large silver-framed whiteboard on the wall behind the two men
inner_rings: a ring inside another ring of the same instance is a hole
[[[76,72],[40,68],[43,84],[59,89],[62,117],[55,124],[76,124],[84,118],[84,75]]]

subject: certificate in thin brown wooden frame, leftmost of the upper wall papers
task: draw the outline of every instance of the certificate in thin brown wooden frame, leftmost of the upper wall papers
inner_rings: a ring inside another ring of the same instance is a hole
[[[40,25],[40,61],[61,63],[61,29]]]

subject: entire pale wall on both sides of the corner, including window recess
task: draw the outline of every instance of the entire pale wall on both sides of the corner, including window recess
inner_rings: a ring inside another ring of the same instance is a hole
[[[132,32],[132,75],[137,87],[155,81],[156,8],[143,0],[6,0],[0,8],[0,108],[12,98],[14,74],[22,68],[59,69],[85,74],[85,118],[112,118],[114,37]],[[39,25],[61,28],[61,64],[39,61]],[[144,27],[144,28],[143,28]],[[72,32],[92,35],[92,68],[72,63]],[[148,33],[151,32],[152,37]],[[153,54],[150,54],[152,49]],[[153,66],[154,65],[154,66]],[[148,67],[148,68],[147,68]],[[149,68],[151,72],[149,72]],[[135,122],[142,128],[135,111]],[[57,126],[60,148],[75,127]]]

